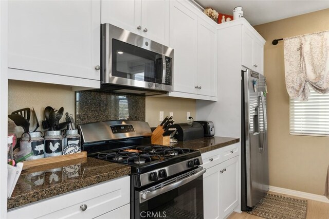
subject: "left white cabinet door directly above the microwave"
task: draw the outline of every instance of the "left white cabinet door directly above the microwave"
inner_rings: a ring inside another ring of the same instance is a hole
[[[101,23],[140,34],[141,0],[102,0]]]

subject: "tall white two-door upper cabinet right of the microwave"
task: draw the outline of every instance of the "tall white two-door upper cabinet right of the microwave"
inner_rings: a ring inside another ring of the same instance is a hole
[[[174,92],[167,96],[217,100],[216,25],[190,2],[171,1]]]

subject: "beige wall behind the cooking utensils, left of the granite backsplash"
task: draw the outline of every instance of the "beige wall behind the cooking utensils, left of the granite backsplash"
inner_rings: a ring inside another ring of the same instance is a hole
[[[44,84],[26,81],[9,80],[8,83],[8,114],[11,112],[29,107],[31,108],[30,130],[34,130],[36,125],[32,115],[32,107],[35,109],[36,117],[39,124],[45,120],[44,109],[46,106],[51,106],[55,109],[64,107],[64,115],[61,121],[64,121],[65,113],[75,115],[75,92],[69,86]],[[11,121],[10,119],[8,119]],[[40,131],[42,128],[39,127]],[[16,127],[16,134],[23,133],[21,127]]]

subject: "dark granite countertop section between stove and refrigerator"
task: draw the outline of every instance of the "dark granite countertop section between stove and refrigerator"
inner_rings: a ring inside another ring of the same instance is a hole
[[[240,138],[230,137],[204,137],[190,141],[178,141],[177,143],[170,144],[173,147],[189,148],[198,150],[201,153],[212,151],[218,148],[223,148],[227,145],[234,144],[240,141]]]

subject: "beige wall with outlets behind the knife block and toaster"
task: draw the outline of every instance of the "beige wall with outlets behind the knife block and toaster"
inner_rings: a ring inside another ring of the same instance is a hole
[[[163,111],[164,117],[169,116],[169,112],[173,112],[175,123],[188,122],[187,112],[191,112],[191,117],[195,118],[195,100],[192,99],[147,97],[145,109],[145,121],[149,122],[151,127],[156,127],[160,124],[160,111]]]

